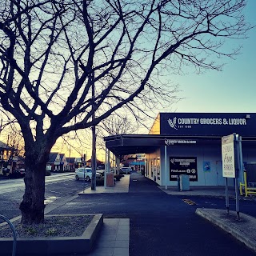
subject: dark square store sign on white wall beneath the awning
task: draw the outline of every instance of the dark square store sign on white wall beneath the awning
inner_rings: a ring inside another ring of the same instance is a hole
[[[194,157],[170,157],[170,181],[176,181],[178,175],[190,176],[190,182],[198,181],[197,158]]]

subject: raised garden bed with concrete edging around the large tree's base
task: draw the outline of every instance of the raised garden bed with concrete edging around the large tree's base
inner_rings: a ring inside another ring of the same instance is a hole
[[[84,217],[84,223],[82,218]],[[50,219],[47,226],[47,218]],[[88,222],[88,220],[90,220]],[[46,224],[17,226],[16,255],[79,255],[90,252],[102,227],[102,214],[46,215]],[[18,223],[16,223],[18,224]],[[7,225],[7,224],[6,224]],[[43,226],[42,226],[43,225]],[[15,226],[15,222],[14,222]],[[1,225],[0,230],[3,227]],[[3,231],[5,233],[5,231]],[[0,234],[2,231],[0,231]],[[1,234],[0,237],[3,235]],[[7,237],[9,236],[9,237]],[[1,255],[11,255],[14,239],[0,238]]]

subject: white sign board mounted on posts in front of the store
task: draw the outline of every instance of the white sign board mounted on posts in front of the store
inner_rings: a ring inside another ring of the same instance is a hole
[[[234,134],[222,137],[222,176],[235,178]]]

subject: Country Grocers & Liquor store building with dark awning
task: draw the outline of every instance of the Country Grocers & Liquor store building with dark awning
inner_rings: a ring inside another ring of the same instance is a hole
[[[242,162],[256,163],[256,114],[251,113],[159,113],[150,134],[105,140],[116,155],[145,153],[145,176],[158,185],[176,186],[178,175],[186,174],[190,186],[224,186],[222,137],[234,133],[242,141]]]

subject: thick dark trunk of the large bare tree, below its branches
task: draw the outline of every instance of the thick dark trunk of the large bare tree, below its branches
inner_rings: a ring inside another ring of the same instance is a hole
[[[23,224],[44,222],[47,159],[43,162],[38,162],[37,159],[39,158],[31,155],[26,156],[25,194],[19,206],[22,211]]]

